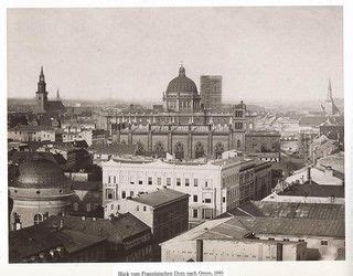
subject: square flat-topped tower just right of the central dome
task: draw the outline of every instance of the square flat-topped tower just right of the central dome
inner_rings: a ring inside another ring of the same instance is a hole
[[[200,77],[201,103],[205,109],[222,105],[222,76],[203,75]]]

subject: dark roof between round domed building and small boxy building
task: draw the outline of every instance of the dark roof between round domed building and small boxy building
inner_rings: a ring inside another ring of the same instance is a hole
[[[149,226],[130,213],[120,214],[111,220],[98,217],[85,217],[83,220],[78,216],[53,215],[43,223],[45,225],[60,225],[61,221],[64,230],[106,237],[114,243],[122,243],[125,238],[150,231]]]

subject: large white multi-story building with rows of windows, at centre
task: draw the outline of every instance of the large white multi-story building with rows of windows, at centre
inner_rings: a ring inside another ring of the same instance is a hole
[[[167,187],[190,194],[190,221],[213,219],[256,198],[258,190],[269,191],[271,182],[268,167],[260,168],[258,161],[244,157],[190,162],[130,157],[111,159],[101,166],[104,204]],[[267,182],[255,182],[255,173],[264,170]]]

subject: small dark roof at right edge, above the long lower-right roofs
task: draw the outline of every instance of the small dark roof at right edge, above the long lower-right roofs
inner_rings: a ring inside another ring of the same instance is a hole
[[[317,184],[313,181],[311,184],[307,181],[303,184],[292,184],[285,191],[279,192],[279,195],[295,195],[295,197],[317,197],[317,198],[344,198],[343,185],[323,185]]]

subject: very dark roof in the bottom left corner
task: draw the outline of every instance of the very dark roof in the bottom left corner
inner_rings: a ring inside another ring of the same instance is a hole
[[[20,262],[25,257],[41,252],[63,246],[60,240],[50,229],[34,225],[9,233],[9,259]]]

